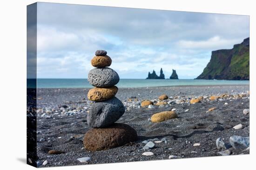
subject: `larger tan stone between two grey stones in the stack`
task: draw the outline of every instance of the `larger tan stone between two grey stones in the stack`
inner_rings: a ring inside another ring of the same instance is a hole
[[[87,97],[90,101],[106,101],[114,97],[117,91],[118,88],[116,86],[109,88],[92,88],[89,90]]]

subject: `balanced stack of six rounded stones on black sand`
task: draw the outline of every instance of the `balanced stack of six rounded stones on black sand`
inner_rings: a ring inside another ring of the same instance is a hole
[[[91,104],[87,123],[90,129],[83,139],[88,151],[106,150],[138,139],[135,129],[122,123],[115,123],[125,112],[123,103],[115,97],[119,76],[108,68],[112,63],[107,51],[97,50],[91,60],[94,69],[89,71],[88,82],[94,86],[88,92]]]

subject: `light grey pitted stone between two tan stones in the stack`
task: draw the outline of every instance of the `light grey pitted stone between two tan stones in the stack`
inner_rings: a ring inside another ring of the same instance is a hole
[[[119,76],[113,69],[95,68],[89,71],[88,82],[100,88],[111,87],[119,82]]]

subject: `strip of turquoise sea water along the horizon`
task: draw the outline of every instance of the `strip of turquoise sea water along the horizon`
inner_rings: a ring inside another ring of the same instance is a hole
[[[27,87],[34,88],[33,81],[27,80]],[[196,85],[249,85],[239,80],[194,80],[194,79],[120,79],[118,88],[196,86]],[[87,79],[37,79],[38,88],[92,88]]]

